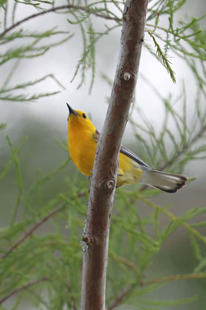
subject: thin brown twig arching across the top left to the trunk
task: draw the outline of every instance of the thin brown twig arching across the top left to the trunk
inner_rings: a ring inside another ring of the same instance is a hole
[[[46,13],[50,13],[50,12],[55,12],[58,10],[63,10],[63,9],[77,9],[77,10],[82,10],[85,12],[88,12],[90,14],[94,14],[97,17],[101,17],[101,18],[105,18],[107,20],[115,20],[115,21],[122,21],[120,18],[116,18],[116,17],[111,17],[111,16],[107,16],[107,15],[103,15],[100,13],[96,13],[94,10],[90,10],[87,7],[82,7],[80,5],[72,5],[72,4],[68,4],[68,5],[62,5],[59,7],[52,7],[49,10],[46,11],[42,11],[33,15],[30,15],[28,17],[25,17],[24,19],[18,21],[17,23],[13,24],[11,27],[5,29],[5,31],[3,31],[2,33],[0,33],[0,37],[4,36],[7,32],[9,32],[10,30],[14,29],[15,27],[19,26],[20,24],[24,23],[27,20],[31,20],[32,18],[38,17],[40,15],[44,15]]]

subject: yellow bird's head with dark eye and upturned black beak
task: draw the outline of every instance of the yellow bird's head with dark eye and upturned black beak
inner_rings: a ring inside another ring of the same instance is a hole
[[[74,110],[70,107],[67,103],[67,107],[69,109],[69,116],[68,116],[68,130],[69,128],[78,129],[78,130],[89,130],[95,131],[95,126],[90,121],[89,117],[86,113]]]

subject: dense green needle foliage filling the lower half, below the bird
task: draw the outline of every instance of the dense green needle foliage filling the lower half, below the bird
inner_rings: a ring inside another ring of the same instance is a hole
[[[15,164],[18,193],[16,199],[14,198],[10,224],[0,230],[0,252],[2,253],[0,300],[15,292],[16,289],[20,289],[30,294],[30,301],[33,300],[37,307],[41,305],[48,309],[63,309],[65,306],[71,309],[74,305],[78,307],[82,264],[79,240],[84,228],[89,184],[86,179],[80,181],[79,177],[75,179],[68,174],[65,179],[68,187],[66,192],[51,195],[49,199],[44,197],[47,182],[55,178],[57,174],[61,174],[70,165],[68,159],[46,175],[42,176],[38,172],[30,190],[24,193],[18,153],[26,139],[27,137],[14,148],[7,137],[11,147],[11,158],[1,173],[3,180],[12,164]],[[162,244],[180,226],[188,231],[197,266],[194,268],[194,273],[174,275],[174,277],[178,280],[181,277],[187,279],[206,276],[205,257],[202,253],[206,237],[197,230],[199,226],[205,226],[205,222],[198,223],[196,220],[194,224],[191,222],[200,214],[205,214],[206,208],[195,207],[188,210],[186,214],[176,217],[168,210],[168,207],[159,206],[149,199],[158,192],[147,189],[141,193],[132,188],[120,188],[116,191],[111,217],[107,272],[108,305],[116,300],[123,289],[128,290],[124,302],[137,304],[142,306],[142,309],[165,309],[166,306],[181,305],[197,298],[197,296],[189,296],[180,300],[159,302],[144,299],[144,296],[151,290],[158,289],[160,283],[162,285],[170,281],[165,277],[154,279],[154,283],[147,283],[147,280],[144,280],[144,274],[154,256],[161,250]],[[141,203],[148,208],[148,213],[144,217],[139,213]],[[21,209],[24,210],[24,216],[16,221],[16,214]],[[169,219],[169,222],[165,227],[160,228],[159,217],[162,214]],[[37,229],[47,221],[52,228],[52,234],[37,233]],[[62,225],[66,226],[65,231],[62,231]],[[153,227],[154,233],[149,232],[149,227]],[[41,296],[39,290],[36,290],[36,287],[38,289],[42,287],[48,295],[47,301]],[[24,294],[18,295],[18,305],[22,298]]]

